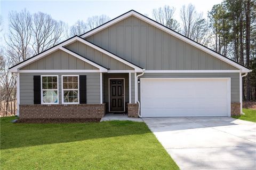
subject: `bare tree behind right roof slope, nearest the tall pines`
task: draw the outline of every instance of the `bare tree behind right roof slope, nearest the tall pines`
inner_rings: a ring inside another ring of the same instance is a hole
[[[207,45],[210,40],[209,22],[203,18],[202,13],[197,13],[195,6],[189,4],[180,10],[182,20],[182,34],[194,41]]]

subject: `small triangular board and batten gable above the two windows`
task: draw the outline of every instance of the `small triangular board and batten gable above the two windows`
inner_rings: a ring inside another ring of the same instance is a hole
[[[73,55],[58,50],[28,64],[21,70],[98,70],[98,68]]]

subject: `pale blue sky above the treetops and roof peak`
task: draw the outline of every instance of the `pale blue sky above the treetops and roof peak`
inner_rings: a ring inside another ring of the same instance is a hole
[[[84,20],[93,15],[106,14],[111,19],[127,11],[135,10],[152,17],[152,10],[164,5],[174,6],[175,19],[179,20],[180,8],[189,3],[195,5],[196,10],[204,13],[212,9],[214,4],[221,0],[169,0],[169,1],[2,1],[0,0],[1,15],[4,21],[4,30],[7,29],[7,18],[10,11],[27,9],[31,13],[38,11],[50,14],[52,18],[73,25],[78,19]]]

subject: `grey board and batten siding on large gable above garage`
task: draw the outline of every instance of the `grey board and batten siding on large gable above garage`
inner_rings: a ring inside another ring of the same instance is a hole
[[[86,40],[147,70],[237,69],[134,16]]]

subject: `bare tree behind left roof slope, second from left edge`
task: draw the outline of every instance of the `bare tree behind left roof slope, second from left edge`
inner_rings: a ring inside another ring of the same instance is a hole
[[[36,54],[58,44],[63,35],[65,24],[52,19],[49,14],[42,12],[33,15],[33,50]]]

